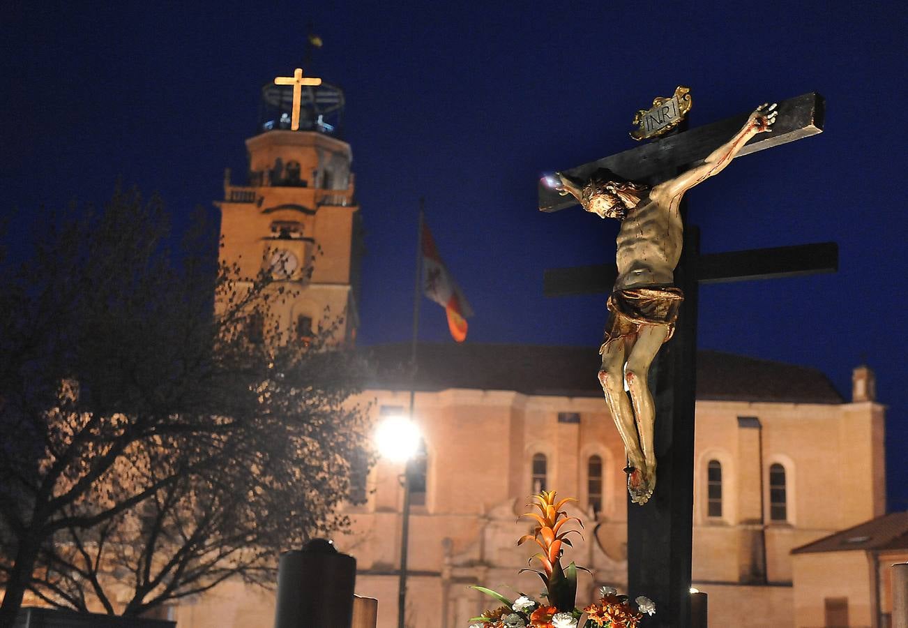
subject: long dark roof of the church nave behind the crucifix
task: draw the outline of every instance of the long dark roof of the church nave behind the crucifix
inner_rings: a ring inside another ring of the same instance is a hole
[[[365,349],[372,375],[368,388],[410,389],[410,344]],[[595,347],[537,344],[420,343],[416,390],[509,390],[522,394],[598,397]],[[697,354],[696,398],[802,404],[842,404],[842,395],[820,371],[717,351]]]

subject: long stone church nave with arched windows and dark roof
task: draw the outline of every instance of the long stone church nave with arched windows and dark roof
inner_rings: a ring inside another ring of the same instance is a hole
[[[406,350],[373,349],[379,374],[363,398],[376,421],[407,407],[409,389],[381,371]],[[515,541],[529,527],[517,515],[540,485],[579,500],[571,514],[586,523],[584,541],[568,560],[592,574],[581,576],[578,599],[602,584],[626,588],[627,508],[637,506],[627,503],[624,449],[596,361],[577,347],[420,346],[416,416],[427,455],[425,493],[410,515],[412,625],[467,625],[489,606],[470,584],[538,592],[534,575],[518,576],[532,551]],[[697,381],[692,586],[709,594],[713,625],[794,626],[791,551],[885,510],[883,406],[861,393],[873,374],[855,369],[846,402],[812,369],[700,352]],[[372,470],[367,503],[349,508],[354,533],[338,539],[389,627],[401,471]]]

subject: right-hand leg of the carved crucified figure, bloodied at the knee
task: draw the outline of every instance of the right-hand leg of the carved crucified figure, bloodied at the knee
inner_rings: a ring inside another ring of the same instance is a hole
[[[656,407],[653,394],[649,390],[647,377],[649,366],[659,351],[659,347],[666,341],[668,327],[666,325],[641,325],[637,332],[637,342],[627,356],[625,367],[625,381],[634,404],[634,414],[637,416],[637,431],[640,434],[640,445],[646,460],[646,490],[637,495],[638,503],[646,503],[653,489],[656,488],[656,452],[653,448],[653,434],[655,431]],[[637,500],[635,500],[637,501]]]

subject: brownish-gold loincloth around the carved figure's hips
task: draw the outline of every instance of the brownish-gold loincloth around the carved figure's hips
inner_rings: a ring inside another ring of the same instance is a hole
[[[604,353],[608,344],[618,338],[637,334],[643,325],[667,325],[668,334],[663,342],[668,342],[675,334],[675,323],[683,301],[684,293],[671,286],[614,291],[608,297],[607,307],[611,314],[599,354]]]

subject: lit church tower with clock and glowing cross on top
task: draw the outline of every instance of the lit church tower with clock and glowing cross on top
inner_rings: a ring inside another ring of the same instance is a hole
[[[262,87],[257,135],[246,140],[246,184],[233,184],[228,169],[215,203],[222,262],[237,264],[242,277],[264,270],[287,288],[291,298],[273,302],[271,316],[300,342],[339,318],[333,340],[351,342],[359,326],[360,208],[341,139],[343,108],[336,85]],[[253,342],[261,334],[250,330]]]

